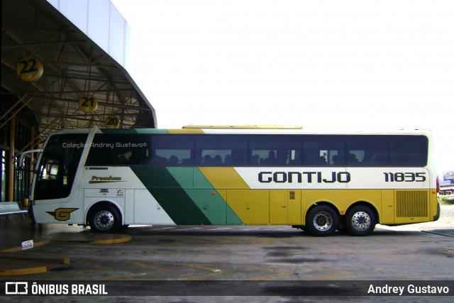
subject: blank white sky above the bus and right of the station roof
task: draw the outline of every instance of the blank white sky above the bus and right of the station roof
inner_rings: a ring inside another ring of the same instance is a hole
[[[111,1],[159,128],[426,128],[454,170],[454,1]]]

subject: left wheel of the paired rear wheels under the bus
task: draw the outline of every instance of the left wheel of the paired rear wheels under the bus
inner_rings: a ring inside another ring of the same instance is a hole
[[[317,205],[306,215],[306,231],[314,236],[330,236],[338,225],[338,214],[328,205]]]

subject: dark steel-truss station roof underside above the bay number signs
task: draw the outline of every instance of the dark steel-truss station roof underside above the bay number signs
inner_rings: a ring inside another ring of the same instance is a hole
[[[38,121],[41,138],[67,128],[104,128],[112,114],[121,128],[155,128],[153,107],[123,67],[47,1],[2,0],[1,6],[1,100],[9,103],[1,127],[16,111]],[[34,82],[16,72],[28,56],[43,64]],[[98,100],[93,113],[79,109],[84,94]]]

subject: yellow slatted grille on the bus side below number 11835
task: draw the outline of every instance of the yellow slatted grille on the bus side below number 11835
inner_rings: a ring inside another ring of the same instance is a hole
[[[428,199],[425,190],[396,191],[397,217],[428,216]]]

